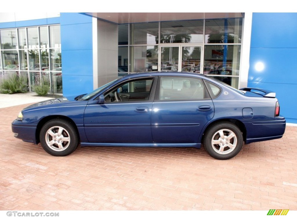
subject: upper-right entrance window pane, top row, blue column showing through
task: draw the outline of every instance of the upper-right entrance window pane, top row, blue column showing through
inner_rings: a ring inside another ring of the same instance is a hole
[[[205,43],[241,43],[242,18],[207,19]]]

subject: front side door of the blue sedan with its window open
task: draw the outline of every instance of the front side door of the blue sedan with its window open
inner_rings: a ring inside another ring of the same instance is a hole
[[[103,93],[104,103],[90,101],[84,114],[89,142],[152,143],[151,109],[156,84],[152,77],[124,81]]]

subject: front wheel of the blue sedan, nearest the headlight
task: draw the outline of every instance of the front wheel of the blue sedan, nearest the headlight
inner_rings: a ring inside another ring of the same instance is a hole
[[[53,119],[42,126],[40,143],[53,156],[67,156],[78,147],[78,132],[69,121]]]

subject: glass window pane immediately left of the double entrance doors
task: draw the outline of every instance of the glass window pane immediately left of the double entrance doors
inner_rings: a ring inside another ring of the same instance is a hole
[[[158,46],[132,46],[130,72],[158,70]]]

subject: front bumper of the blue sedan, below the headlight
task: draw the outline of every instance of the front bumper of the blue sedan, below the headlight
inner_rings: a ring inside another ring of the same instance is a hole
[[[21,121],[14,120],[11,124],[11,129],[15,138],[37,144],[35,137],[36,125],[25,125]]]

